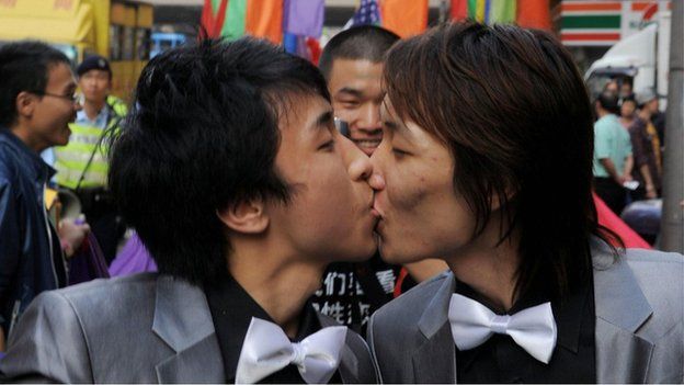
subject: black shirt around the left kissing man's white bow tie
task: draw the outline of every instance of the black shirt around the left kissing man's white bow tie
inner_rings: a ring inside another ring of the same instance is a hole
[[[238,360],[242,351],[242,342],[249,329],[252,317],[273,322],[269,314],[240,286],[231,276],[226,276],[215,286],[206,286],[205,294],[214,320],[214,329],[218,339],[218,346],[224,358],[226,382],[235,384]],[[314,307],[307,303],[299,318],[299,329],[295,342],[321,329],[318,315]],[[338,372],[330,383],[341,383]],[[263,378],[261,384],[305,384],[296,365],[287,365],[278,372]]]

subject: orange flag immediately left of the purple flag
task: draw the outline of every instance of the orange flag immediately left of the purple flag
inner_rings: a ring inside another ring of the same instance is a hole
[[[283,0],[250,0],[247,5],[244,32],[283,42]]]

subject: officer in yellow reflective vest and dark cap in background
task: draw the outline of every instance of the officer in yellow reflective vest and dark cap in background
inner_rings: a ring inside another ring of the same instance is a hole
[[[112,69],[101,56],[86,58],[77,68],[81,103],[76,122],[69,125],[69,144],[55,147],[57,183],[72,190],[107,263],[114,259],[116,246],[125,231],[106,186],[107,159],[106,129],[117,129],[126,115],[125,103],[110,95]]]

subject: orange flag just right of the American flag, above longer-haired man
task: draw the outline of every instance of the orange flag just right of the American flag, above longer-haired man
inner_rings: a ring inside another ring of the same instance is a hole
[[[383,26],[401,37],[422,33],[428,27],[428,0],[383,0]]]

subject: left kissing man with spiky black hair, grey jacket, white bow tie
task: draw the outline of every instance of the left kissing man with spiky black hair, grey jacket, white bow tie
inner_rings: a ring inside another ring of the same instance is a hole
[[[363,339],[308,298],[373,254],[368,158],[308,61],[205,41],[144,69],[110,185],[159,274],[50,292],[0,372],[64,383],[374,383]]]

